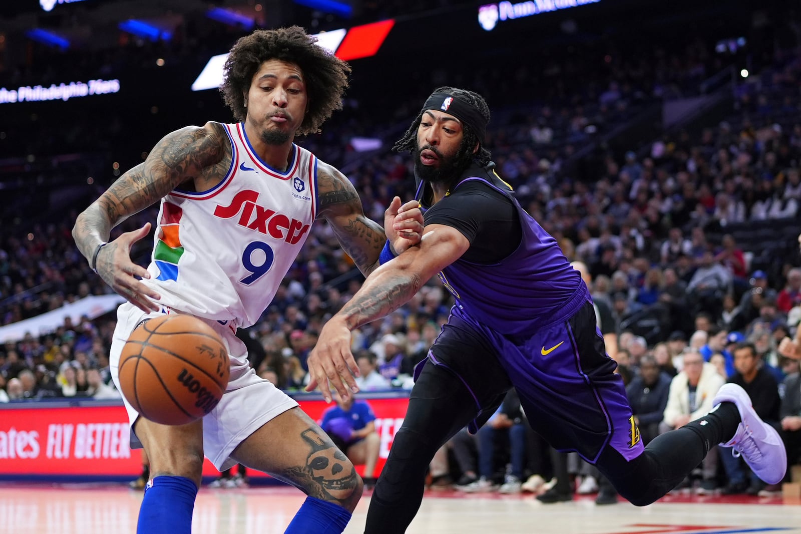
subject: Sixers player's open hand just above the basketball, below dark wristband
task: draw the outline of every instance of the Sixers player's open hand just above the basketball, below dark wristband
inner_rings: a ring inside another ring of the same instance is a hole
[[[145,223],[142,228],[123,233],[114,241],[110,241],[100,249],[95,263],[98,274],[103,281],[111,285],[111,289],[145,312],[159,311],[159,305],[150,299],[159,300],[161,296],[136,279],[136,277],[151,276],[147,269],[131,261],[131,246],[143,237],[147,237],[150,229],[151,224]]]

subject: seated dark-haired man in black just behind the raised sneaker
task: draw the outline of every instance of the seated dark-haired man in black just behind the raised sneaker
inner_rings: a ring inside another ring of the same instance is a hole
[[[735,347],[735,367],[736,372],[729,378],[733,382],[742,386],[751,397],[751,405],[756,413],[766,423],[779,422],[779,386],[776,379],[763,366],[756,347],[751,343],[739,343]],[[743,459],[734,455],[722,455],[723,467],[729,478],[727,487],[723,488],[723,493],[727,495],[747,492],[748,495],[757,495],[764,487],[764,483],[751,472]],[[750,478],[747,483],[746,478]]]

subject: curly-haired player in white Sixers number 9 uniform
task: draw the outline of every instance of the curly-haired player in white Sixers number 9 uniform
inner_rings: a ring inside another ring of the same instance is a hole
[[[417,201],[392,201],[384,229],[364,216],[352,184],[293,143],[319,131],[341,107],[350,67],[297,26],[240,38],[225,64],[223,98],[239,123],[206,123],[165,136],[143,164],[123,174],[78,216],[73,236],[95,272],[127,298],[120,306],[111,370],[131,332],[161,314],[191,314],[227,344],[231,380],[203,419],[153,423],[126,402],[131,445],[144,447],[151,476],[138,532],[191,532],[203,456],[220,470],[243,463],[308,494],[286,532],[342,532],[362,491],[352,463],[297,403],[248,366],[235,337],[268,306],[316,219],[367,275],[380,254],[417,244]],[[131,245],[151,225],[107,243],[111,229],[160,201],[147,270]],[[141,278],[141,279],[139,279]],[[356,389],[352,358],[336,362],[340,394]],[[333,370],[333,367],[332,367]]]

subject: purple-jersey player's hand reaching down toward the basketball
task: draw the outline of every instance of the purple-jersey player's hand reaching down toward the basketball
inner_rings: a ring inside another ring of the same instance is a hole
[[[356,393],[354,376],[359,376],[359,366],[350,350],[351,333],[340,318],[333,317],[317,338],[317,345],[308,355],[309,381],[307,391],[319,389],[326,403],[331,402],[331,386],[342,398],[349,398],[350,391]],[[331,382],[331,386],[328,385]]]

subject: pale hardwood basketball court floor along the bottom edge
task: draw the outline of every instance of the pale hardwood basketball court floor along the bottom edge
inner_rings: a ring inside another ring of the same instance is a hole
[[[120,485],[0,483],[0,532],[123,534],[136,532],[141,492]],[[199,493],[194,534],[278,534],[304,496],[288,487],[207,489]],[[364,530],[369,492],[347,534]],[[409,534],[801,534],[801,502],[776,498],[668,496],[636,508],[596,506],[589,497],[541,504],[533,496],[426,492]],[[310,533],[313,534],[313,533]]]

